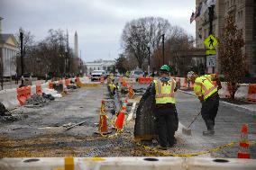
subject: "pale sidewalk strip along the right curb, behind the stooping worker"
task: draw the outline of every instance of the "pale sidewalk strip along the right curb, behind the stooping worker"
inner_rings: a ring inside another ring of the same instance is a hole
[[[193,95],[193,96],[196,97],[196,94],[193,91],[184,91],[184,90],[179,90],[179,91],[182,92],[182,93]],[[255,104],[254,103],[234,104],[234,103],[224,102],[224,101],[221,101],[221,100],[220,100],[220,103],[224,103],[226,105],[230,105],[230,106],[233,106],[233,107],[238,107],[238,108],[241,108],[241,109],[245,109],[245,110],[249,111],[250,113],[252,112],[253,114],[256,115],[256,103]]]

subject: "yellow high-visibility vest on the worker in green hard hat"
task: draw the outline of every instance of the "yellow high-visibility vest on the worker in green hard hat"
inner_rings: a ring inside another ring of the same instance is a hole
[[[174,98],[174,89],[176,87],[175,80],[169,80],[168,82],[161,82],[160,80],[154,80],[156,90],[156,103],[176,103]]]

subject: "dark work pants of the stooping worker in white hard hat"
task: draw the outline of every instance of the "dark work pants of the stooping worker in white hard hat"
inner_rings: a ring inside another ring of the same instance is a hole
[[[206,122],[207,130],[215,130],[215,117],[219,108],[219,95],[214,94],[202,103],[201,114]]]

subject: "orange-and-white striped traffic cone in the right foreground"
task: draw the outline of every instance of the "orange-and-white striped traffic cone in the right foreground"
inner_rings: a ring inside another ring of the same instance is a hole
[[[249,140],[248,140],[248,125],[243,124],[241,129],[241,139],[239,142],[239,150],[237,153],[237,158],[250,159],[249,153]]]

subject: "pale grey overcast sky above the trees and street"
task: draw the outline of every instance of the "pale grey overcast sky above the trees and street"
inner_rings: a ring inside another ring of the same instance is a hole
[[[85,61],[118,58],[124,24],[146,16],[160,16],[195,36],[195,22],[189,23],[195,0],[0,0],[3,33],[20,27],[42,40],[50,29],[69,31],[74,49]]]

